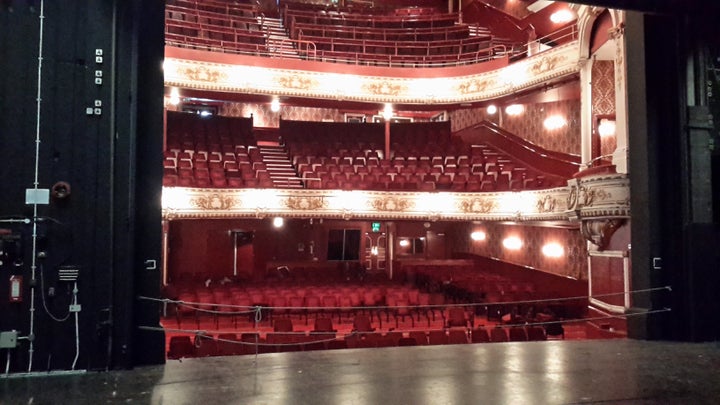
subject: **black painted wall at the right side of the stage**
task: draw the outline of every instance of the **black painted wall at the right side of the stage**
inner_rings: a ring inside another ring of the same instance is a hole
[[[717,42],[717,32],[711,34],[717,24],[692,13],[631,12],[627,20],[632,288],[672,287],[634,297],[638,314],[657,313],[629,318],[629,336],[717,340],[712,119],[702,113],[708,100],[699,89],[706,80],[697,75],[707,68],[701,55]],[[697,68],[688,64],[692,60]]]

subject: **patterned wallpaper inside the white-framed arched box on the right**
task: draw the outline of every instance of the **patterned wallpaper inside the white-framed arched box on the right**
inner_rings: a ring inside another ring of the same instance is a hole
[[[596,60],[592,66],[593,116],[615,114],[615,63]],[[600,155],[606,156],[617,148],[614,136],[600,138]]]

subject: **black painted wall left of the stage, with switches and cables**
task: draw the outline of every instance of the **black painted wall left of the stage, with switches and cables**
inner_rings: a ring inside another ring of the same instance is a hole
[[[139,0],[0,3],[0,218],[29,222],[0,222],[18,256],[0,266],[0,331],[34,337],[32,350],[30,339],[11,350],[12,371],[72,367],[74,314],[62,319],[73,283],[57,276],[66,265],[80,268],[76,369],[163,361],[162,333],[136,328],[158,324],[157,305],[136,296],[157,296],[160,284],[152,260],[161,239],[163,9]],[[87,115],[95,100],[101,110]],[[36,145],[38,187],[69,185],[37,215],[25,204]],[[7,299],[10,275],[23,277],[21,303]]]

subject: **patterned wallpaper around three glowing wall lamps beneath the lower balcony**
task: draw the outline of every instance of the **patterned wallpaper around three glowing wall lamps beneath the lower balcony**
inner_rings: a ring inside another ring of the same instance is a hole
[[[484,231],[484,241],[473,241],[470,234]],[[508,251],[502,241],[508,236],[519,236],[523,247],[518,251]],[[472,253],[495,257],[503,261],[529,266],[548,273],[587,280],[587,248],[585,239],[576,229],[547,228],[538,226],[510,225],[495,222],[481,224],[458,223],[448,231],[448,246],[454,246],[454,252]],[[542,254],[542,246],[555,242],[565,249],[560,258],[547,258]]]

